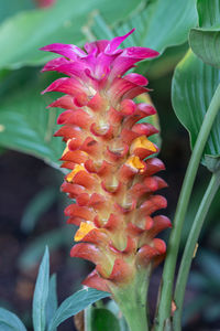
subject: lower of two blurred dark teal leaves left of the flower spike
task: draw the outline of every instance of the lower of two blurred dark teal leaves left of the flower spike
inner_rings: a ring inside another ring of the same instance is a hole
[[[31,268],[37,264],[41,255],[47,245],[50,252],[61,247],[62,245],[70,245],[70,238],[74,233],[68,227],[55,228],[51,232],[44,233],[36,239],[32,239],[31,244],[25,247],[25,250],[20,255],[19,267],[21,269]]]

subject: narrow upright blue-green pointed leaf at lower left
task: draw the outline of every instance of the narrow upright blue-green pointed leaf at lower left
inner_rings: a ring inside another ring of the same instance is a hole
[[[38,275],[36,279],[34,298],[33,298],[33,325],[34,331],[44,331],[46,327],[46,301],[48,297],[48,281],[50,281],[50,260],[48,248],[40,265]]]

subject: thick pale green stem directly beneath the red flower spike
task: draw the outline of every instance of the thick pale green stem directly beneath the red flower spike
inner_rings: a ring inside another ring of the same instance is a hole
[[[130,331],[148,331],[146,317],[148,278],[150,270],[140,270],[131,284],[123,288],[111,287],[113,299],[119,305]]]

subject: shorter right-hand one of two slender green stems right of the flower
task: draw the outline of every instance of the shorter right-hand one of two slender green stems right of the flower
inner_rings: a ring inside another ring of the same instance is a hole
[[[199,234],[206,218],[206,215],[209,211],[210,204],[219,189],[220,185],[220,171],[212,174],[210,183],[207,188],[207,191],[204,195],[204,199],[199,205],[198,212],[194,220],[186,247],[184,249],[184,255],[182,258],[182,264],[178,271],[178,277],[176,281],[176,288],[174,293],[174,301],[176,303],[177,310],[174,313],[174,330],[182,330],[182,310],[184,305],[185,288],[188,279],[189,269],[191,266],[191,260],[194,258],[194,252],[199,238]]]

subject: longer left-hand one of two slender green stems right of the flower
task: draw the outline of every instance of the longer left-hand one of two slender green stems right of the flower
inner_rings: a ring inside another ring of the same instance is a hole
[[[155,331],[164,330],[165,322],[170,318],[170,303],[173,295],[174,275],[176,269],[176,260],[178,255],[178,248],[180,243],[180,235],[183,224],[188,207],[189,197],[191,194],[193,185],[199,167],[199,162],[208,140],[211,127],[220,107],[220,85],[211,99],[209,108],[204,118],[197,141],[195,143],[191,158],[185,174],[182,192],[179,195],[176,214],[174,217],[174,225],[170,233],[167,256],[164,265],[164,273],[162,279],[162,291],[160,298],[160,305],[157,316],[155,319]]]

